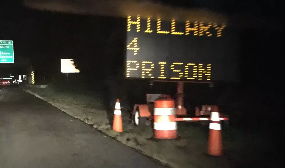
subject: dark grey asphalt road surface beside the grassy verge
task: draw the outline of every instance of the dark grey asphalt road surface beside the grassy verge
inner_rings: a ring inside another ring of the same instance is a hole
[[[19,88],[7,87],[0,91],[0,168],[28,167],[165,166]]]

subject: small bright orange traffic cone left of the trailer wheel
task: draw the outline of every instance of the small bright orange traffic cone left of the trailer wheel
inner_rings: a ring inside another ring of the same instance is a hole
[[[117,99],[116,104],[115,104],[114,119],[113,119],[113,130],[117,131],[117,132],[123,132],[120,99]]]

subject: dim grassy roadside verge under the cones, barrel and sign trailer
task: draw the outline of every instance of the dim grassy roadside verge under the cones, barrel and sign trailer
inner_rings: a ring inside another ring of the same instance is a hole
[[[270,151],[270,140],[257,133],[245,133],[231,128],[223,132],[224,155],[211,157],[207,153],[208,128],[198,123],[178,123],[177,140],[154,140],[151,127],[140,130],[131,124],[127,112],[122,112],[123,133],[112,130],[108,112],[104,110],[99,97],[85,94],[61,92],[52,87],[46,89],[28,88],[43,100],[82,120],[94,128],[114,137],[127,146],[142,151],[162,163],[174,168],[230,168],[255,162],[264,152]],[[109,114],[110,115],[110,114]]]

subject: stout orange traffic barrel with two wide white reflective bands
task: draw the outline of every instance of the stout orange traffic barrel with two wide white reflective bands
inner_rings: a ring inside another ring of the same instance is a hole
[[[154,138],[177,138],[175,118],[175,103],[173,99],[164,98],[154,101]]]

